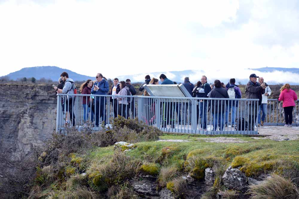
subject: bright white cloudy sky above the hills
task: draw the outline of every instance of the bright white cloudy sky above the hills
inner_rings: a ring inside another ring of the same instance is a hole
[[[34,66],[111,78],[299,68],[298,24],[293,0],[0,0],[0,76]]]

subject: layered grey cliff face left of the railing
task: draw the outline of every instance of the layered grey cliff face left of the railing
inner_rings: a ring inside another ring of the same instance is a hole
[[[0,84],[0,141],[27,154],[56,128],[57,97],[51,86]]]

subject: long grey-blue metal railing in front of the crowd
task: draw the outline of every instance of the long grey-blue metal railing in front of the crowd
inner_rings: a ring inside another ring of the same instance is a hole
[[[257,134],[258,130],[258,99],[82,94],[71,94],[74,98],[67,99],[67,96],[68,94],[57,94],[57,132],[63,131],[65,126],[80,129],[87,121],[93,125],[94,130],[98,130],[102,122],[106,126],[110,125],[112,118],[119,115],[138,118],[147,125],[174,133],[247,135]],[[86,104],[82,104],[83,98],[88,101],[90,96],[94,99],[90,103],[89,111],[84,113],[83,106]],[[120,105],[120,98],[131,100],[128,104]],[[227,113],[228,109],[230,111]],[[235,114],[232,114],[233,109]],[[269,112],[271,111],[272,109],[269,109]]]

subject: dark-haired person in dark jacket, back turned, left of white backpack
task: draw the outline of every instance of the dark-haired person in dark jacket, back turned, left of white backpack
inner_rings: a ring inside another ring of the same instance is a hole
[[[220,80],[214,81],[215,88],[211,90],[210,98],[229,98],[228,93],[225,88],[222,87]],[[224,127],[224,108],[225,100],[211,100],[211,113],[213,114],[213,130],[217,131],[218,127],[220,131]],[[222,103],[221,103],[222,102]],[[221,108],[222,107],[222,108]]]

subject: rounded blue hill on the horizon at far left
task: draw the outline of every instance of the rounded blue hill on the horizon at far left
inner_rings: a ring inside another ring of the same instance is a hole
[[[68,69],[59,68],[56,66],[36,66],[36,67],[28,67],[28,68],[22,68],[21,70],[18,70],[16,72],[9,73],[8,76],[10,79],[16,80],[17,78],[23,78],[23,77],[34,77],[36,79],[40,78],[46,78],[51,79],[53,81],[57,81],[59,78],[59,75],[62,72],[67,72],[69,77],[71,77],[75,81],[83,81],[87,79],[94,79],[86,75],[80,75],[76,72],[73,72]]]

